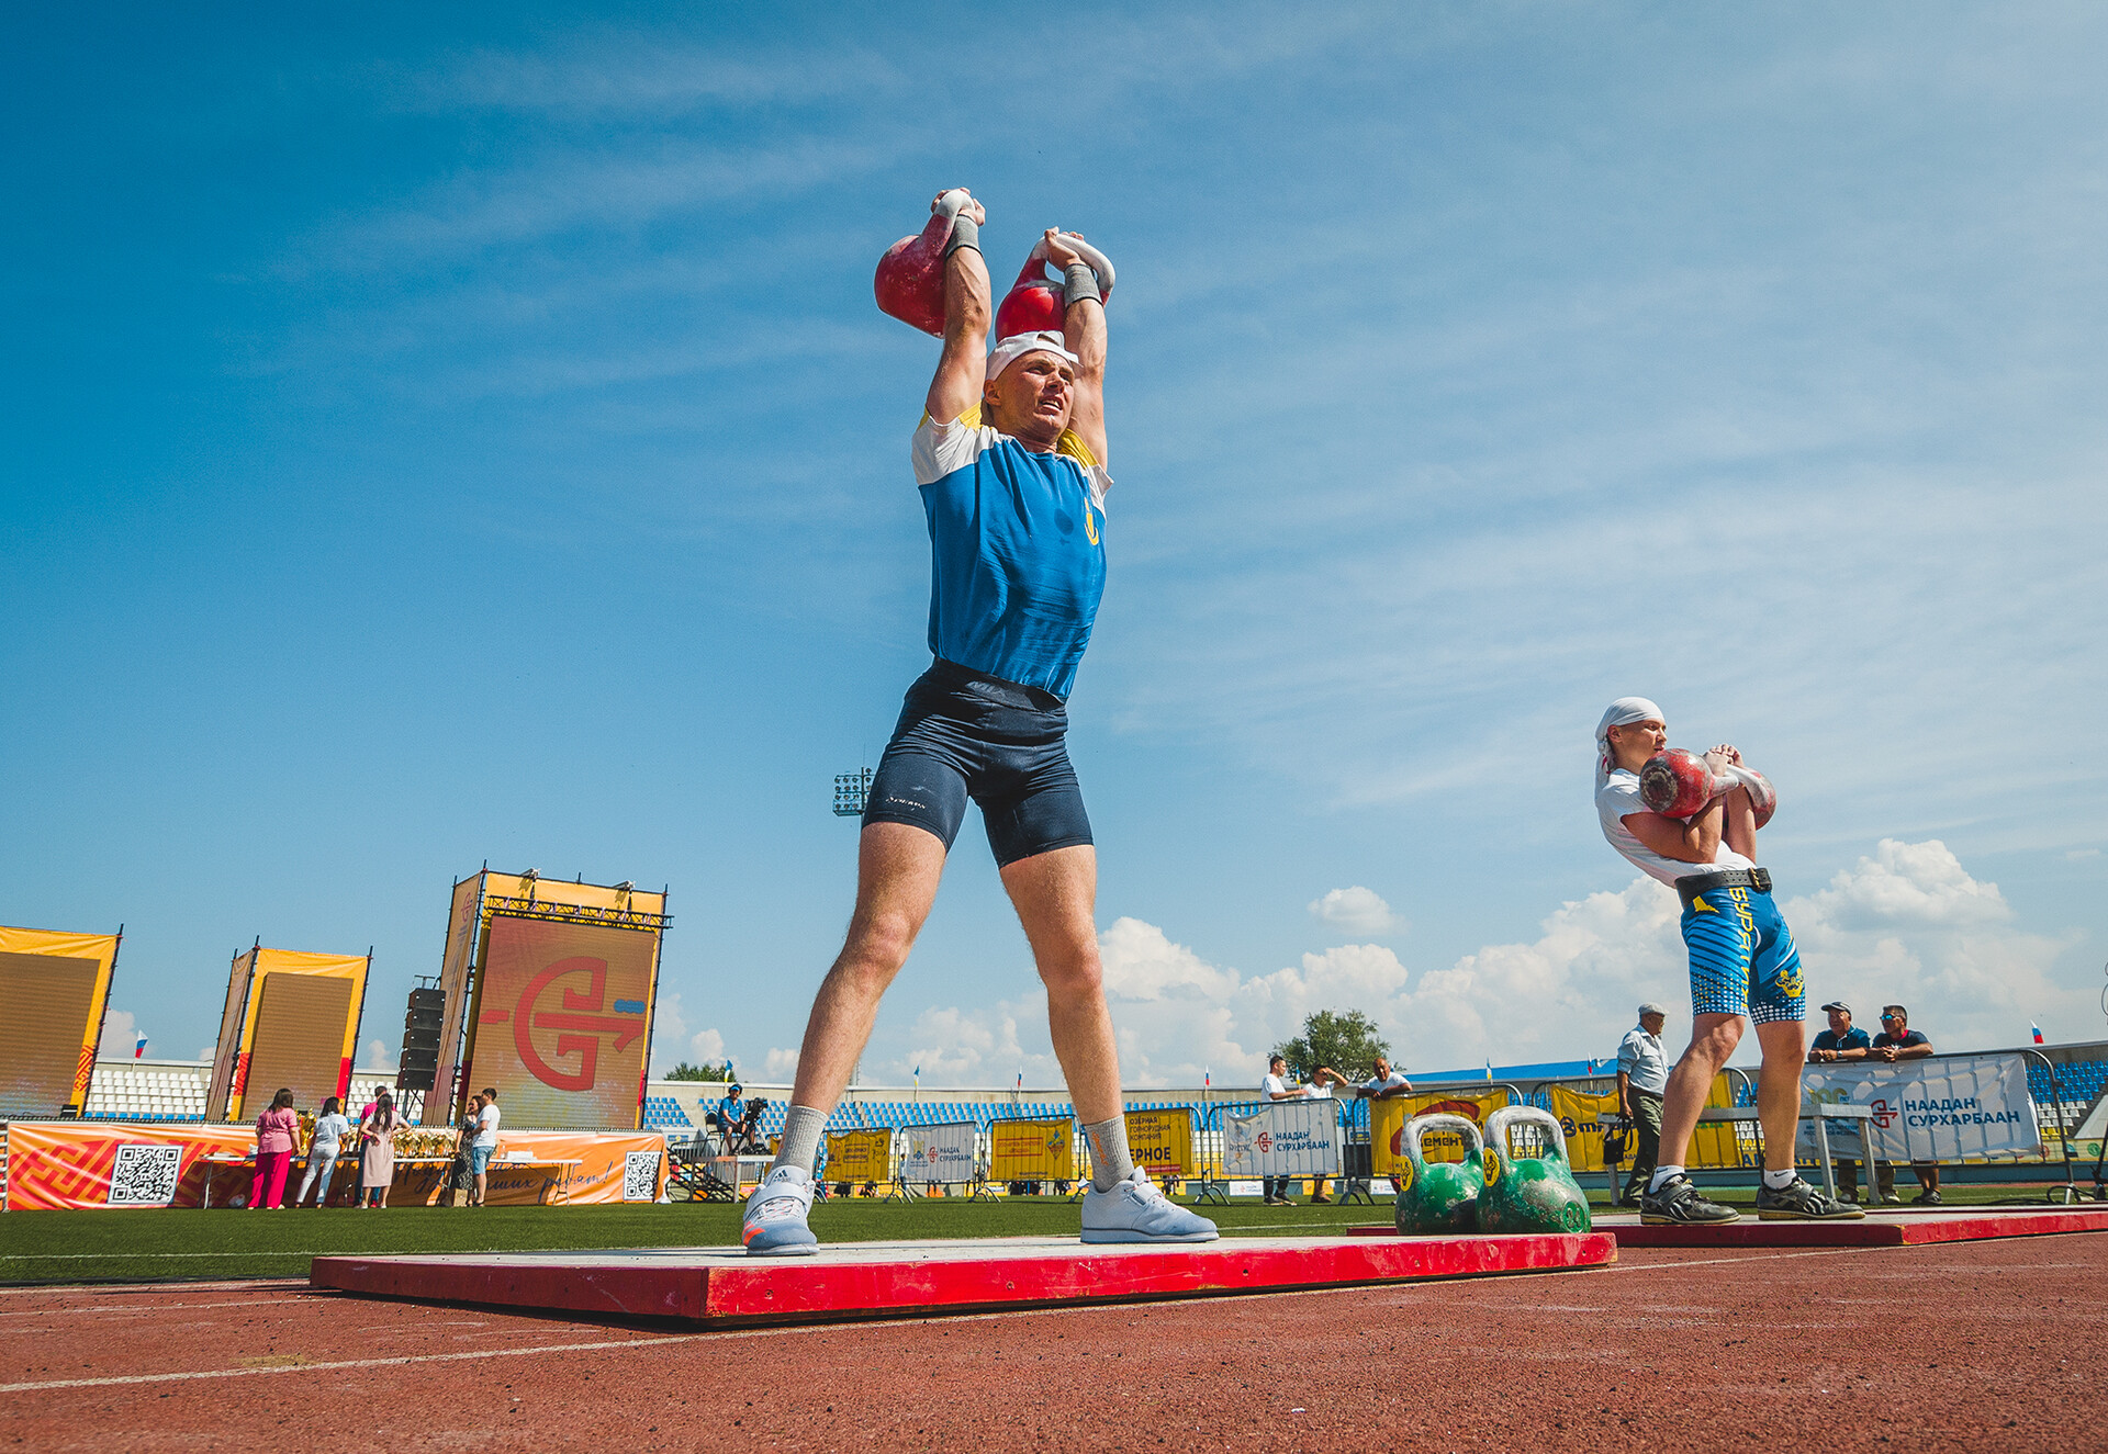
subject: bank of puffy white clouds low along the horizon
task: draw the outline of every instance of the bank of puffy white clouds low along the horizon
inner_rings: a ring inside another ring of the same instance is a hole
[[[1322,902],[1322,900],[1320,900]],[[1157,925],[1117,919],[1098,936],[1128,1087],[1254,1083],[1267,1049],[1318,1009],[1362,1009],[1408,1068],[1608,1056],[1644,999],[1689,1030],[1676,893],[1636,877],[1560,904],[1524,944],[1486,944],[1444,969],[1412,971],[1381,944],[1341,944],[1248,976],[1212,965]],[[2089,990],[2055,982],[2064,940],[2011,927],[1998,887],[1973,879],[1937,839],[1885,839],[1830,887],[1783,904],[1800,944],[1809,1003],[1904,1001],[1944,1049],[2017,1045],[2030,1018],[2078,1026]],[[898,1064],[925,1085],[1058,1085],[1046,999],[989,1009],[932,1007]],[[1743,1060],[1754,1060],[1745,1041]]]

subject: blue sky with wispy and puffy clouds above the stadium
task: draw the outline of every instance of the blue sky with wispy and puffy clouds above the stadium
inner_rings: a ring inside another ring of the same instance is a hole
[[[670,885],[656,1060],[788,1070],[925,664],[871,268],[955,183],[999,276],[1119,266],[1132,1081],[1680,1005],[1589,809],[1629,691],[1779,784],[1819,997],[2102,1035],[2097,8],[852,15],[6,21],[0,921],[122,921],[126,1041],[261,936],[373,944],[392,1058],[489,860]],[[1052,1081],[1041,1016],[970,822],[864,1073]]]

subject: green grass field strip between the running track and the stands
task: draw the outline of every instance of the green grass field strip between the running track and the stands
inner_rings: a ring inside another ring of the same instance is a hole
[[[1908,1182],[1908,1176],[1901,1178]],[[1910,1186],[1904,1186],[1910,1195]],[[1750,1201],[1752,1191],[1710,1191]],[[2024,1186],[1954,1186],[1948,1205],[2030,1201]],[[1604,1210],[1602,1186],[1592,1188]],[[1389,1222],[1377,1205],[1265,1207],[1240,1201],[1208,1207],[1231,1235],[1288,1237]],[[814,1207],[824,1241],[1065,1235],[1077,1207],[1058,1199],[866,1201],[835,1199]],[[0,1283],[84,1283],[219,1277],[306,1277],[308,1258],[344,1252],[535,1252],[590,1247],[729,1245],[740,1239],[734,1203],[616,1207],[390,1207],[356,1212],[8,1212],[0,1216]]]

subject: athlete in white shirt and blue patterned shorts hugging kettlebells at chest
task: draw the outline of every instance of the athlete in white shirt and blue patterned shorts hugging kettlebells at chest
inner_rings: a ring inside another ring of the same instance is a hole
[[[1684,1176],[1684,1155],[1714,1077],[1741,1043],[1743,1020],[1756,1024],[1764,1052],[1756,1083],[1756,1113],[1764,1127],[1756,1214],[1764,1220],[1866,1216],[1794,1172],[1807,993],[1794,934],[1771,902],[1771,875],[1756,866],[1756,807],[1741,752],[1726,742],[1707,752],[1705,761],[1724,790],[1691,818],[1665,818],[1640,801],[1640,769],[1667,740],[1661,708],[1646,697],[1619,697],[1596,723],[1602,837],[1636,868],[1676,889],[1691,955],[1691,1047],[1670,1070],[1661,1096],[1665,1159],[1640,1193],[1640,1220],[1712,1224],[1739,1216],[1699,1195]]]

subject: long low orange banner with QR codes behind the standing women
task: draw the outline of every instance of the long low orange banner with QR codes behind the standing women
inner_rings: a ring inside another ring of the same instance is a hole
[[[211,1174],[213,1205],[249,1197],[251,1125],[122,1125],[15,1121],[6,1127],[6,1207],[198,1207]],[[390,1205],[438,1201],[447,1161],[396,1159]],[[354,1159],[337,1163],[348,1191]],[[658,1201],[666,1193],[666,1142],[658,1134],[500,1132],[491,1159],[491,1205]]]

